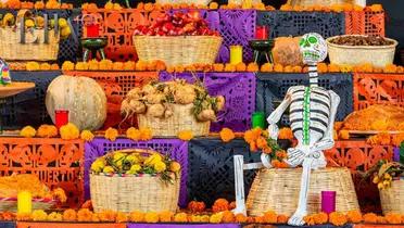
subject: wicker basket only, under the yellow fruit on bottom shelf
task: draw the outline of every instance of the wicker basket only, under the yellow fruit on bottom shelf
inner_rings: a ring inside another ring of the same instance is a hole
[[[126,149],[123,153],[153,154],[141,149]],[[159,176],[90,174],[91,201],[96,213],[103,210],[130,213],[169,211],[175,213],[179,198],[179,175],[174,183],[166,183]]]

